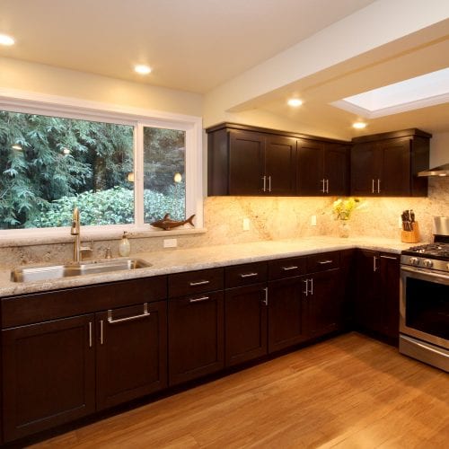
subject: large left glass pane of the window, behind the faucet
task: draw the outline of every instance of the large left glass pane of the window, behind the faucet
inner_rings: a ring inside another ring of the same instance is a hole
[[[0,110],[0,229],[134,223],[133,133]]]

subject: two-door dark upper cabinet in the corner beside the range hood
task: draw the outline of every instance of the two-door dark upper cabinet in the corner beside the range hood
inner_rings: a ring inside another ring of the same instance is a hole
[[[418,129],[353,139],[351,194],[383,197],[425,197],[429,138]]]

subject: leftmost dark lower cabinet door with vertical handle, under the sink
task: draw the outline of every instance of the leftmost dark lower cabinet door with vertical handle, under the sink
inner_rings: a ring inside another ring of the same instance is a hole
[[[4,441],[95,409],[93,315],[2,331]]]

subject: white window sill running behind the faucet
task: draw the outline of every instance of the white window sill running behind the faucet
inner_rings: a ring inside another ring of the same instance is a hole
[[[82,242],[101,242],[107,240],[119,240],[123,232],[127,232],[129,239],[146,239],[153,237],[172,237],[176,235],[193,235],[198,233],[207,233],[206,228],[175,228],[171,231],[155,230],[155,229],[132,229],[129,226],[119,226],[115,229],[89,229],[88,226],[81,228]],[[72,243],[74,236],[70,235],[70,228],[58,229],[41,229],[39,232],[24,231],[22,235],[11,237],[7,233],[0,235],[0,248],[48,245],[56,243]]]

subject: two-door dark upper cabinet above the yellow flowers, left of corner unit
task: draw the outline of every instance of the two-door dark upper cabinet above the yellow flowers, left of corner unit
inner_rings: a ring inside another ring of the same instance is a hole
[[[349,145],[298,139],[298,195],[348,195]]]

